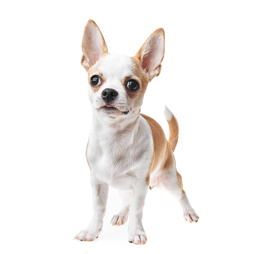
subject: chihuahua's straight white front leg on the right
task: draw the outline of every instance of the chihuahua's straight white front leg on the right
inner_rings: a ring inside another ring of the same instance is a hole
[[[142,226],[142,212],[148,185],[146,183],[136,183],[132,191],[133,199],[129,212],[128,240],[133,244],[146,244],[146,233]]]

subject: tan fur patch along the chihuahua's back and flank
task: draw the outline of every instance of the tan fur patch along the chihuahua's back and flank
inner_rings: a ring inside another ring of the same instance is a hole
[[[172,154],[172,149],[170,148],[169,142],[166,140],[166,135],[162,130],[162,127],[158,122],[154,121],[149,116],[145,114],[140,114],[150,125],[154,151],[151,157],[150,169],[148,170],[148,175],[146,175],[146,183],[150,182],[150,174],[154,172],[156,167],[160,165],[160,170],[168,170],[174,165],[174,157]]]

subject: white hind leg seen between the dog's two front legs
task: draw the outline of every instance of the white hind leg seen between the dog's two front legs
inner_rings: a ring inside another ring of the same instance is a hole
[[[128,214],[129,214],[129,207],[132,203],[132,189],[128,191],[119,191],[121,200],[122,200],[122,206],[119,213],[113,216],[111,219],[111,224],[120,226],[128,220]]]

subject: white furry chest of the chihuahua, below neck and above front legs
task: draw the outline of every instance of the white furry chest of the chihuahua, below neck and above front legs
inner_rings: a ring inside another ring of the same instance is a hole
[[[135,181],[146,178],[150,167],[153,153],[150,127],[142,117],[135,132],[107,133],[107,136],[99,131],[97,135],[90,134],[87,161],[91,173],[113,188],[130,189]]]

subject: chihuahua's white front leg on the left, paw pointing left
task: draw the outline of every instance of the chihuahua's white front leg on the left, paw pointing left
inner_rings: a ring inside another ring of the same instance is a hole
[[[92,241],[98,238],[102,231],[103,218],[106,212],[106,200],[108,199],[108,185],[98,181],[91,172],[90,183],[92,185],[92,208],[94,215],[86,229],[79,232],[75,239]]]

